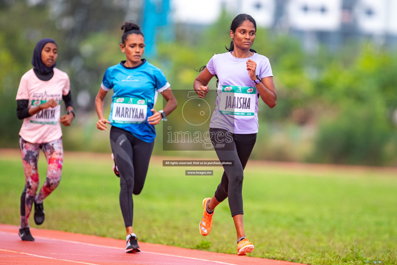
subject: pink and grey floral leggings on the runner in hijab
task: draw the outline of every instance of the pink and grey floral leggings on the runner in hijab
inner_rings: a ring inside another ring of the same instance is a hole
[[[33,201],[42,203],[43,199],[55,190],[61,180],[64,149],[62,139],[49,143],[29,143],[21,137],[19,138],[19,147],[21,149],[23,171],[25,172],[25,189],[21,196],[21,228],[25,228],[29,226],[28,219],[32,211]],[[36,195],[39,187],[37,161],[40,149],[43,150],[48,163],[47,178]]]

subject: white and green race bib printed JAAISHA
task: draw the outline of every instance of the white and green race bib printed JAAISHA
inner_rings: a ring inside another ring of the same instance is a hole
[[[223,85],[219,111],[222,114],[254,116],[256,87]]]

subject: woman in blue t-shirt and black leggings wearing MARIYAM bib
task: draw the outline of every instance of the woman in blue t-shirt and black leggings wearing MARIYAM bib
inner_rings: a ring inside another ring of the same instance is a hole
[[[96,127],[99,130],[110,129],[110,145],[114,155],[114,172],[120,177],[120,207],[127,232],[125,252],[139,252],[136,235],[132,228],[132,194],[141,193],[152,154],[156,130],[162,118],[170,114],[177,101],[170,84],[162,71],[142,59],[145,51],[145,39],[138,25],[127,22],[120,48],[126,60],[109,67],[95,98],[98,114]],[[103,116],[104,98],[113,89],[112,111],[109,120]],[[166,99],[163,110],[156,111],[157,95]],[[117,165],[117,166],[116,166]]]

